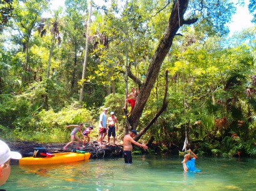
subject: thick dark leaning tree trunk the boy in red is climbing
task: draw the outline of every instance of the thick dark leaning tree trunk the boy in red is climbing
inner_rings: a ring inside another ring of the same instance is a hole
[[[151,89],[156,82],[161,68],[161,64],[166,57],[166,54],[172,46],[173,38],[176,36],[178,29],[183,24],[192,24],[197,22],[197,19],[191,19],[185,21],[183,15],[187,10],[189,0],[176,0],[173,3],[172,12],[170,14],[168,24],[165,29],[165,33],[158,44],[155,54],[150,60],[148,71],[146,73],[145,81],[140,89],[140,94],[137,97],[135,107],[129,118],[132,129],[136,129],[138,121],[140,120],[143,109],[146,105],[148,97],[150,97]],[[179,10],[178,10],[179,8]]]

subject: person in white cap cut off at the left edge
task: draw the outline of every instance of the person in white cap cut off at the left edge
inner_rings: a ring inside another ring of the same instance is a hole
[[[21,159],[21,154],[18,152],[13,152],[9,149],[8,145],[0,140],[0,186],[3,185],[6,180],[8,180],[11,174],[10,160]]]

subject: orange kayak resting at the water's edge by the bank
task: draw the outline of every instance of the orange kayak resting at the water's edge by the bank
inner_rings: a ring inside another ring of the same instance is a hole
[[[76,153],[76,152],[63,152],[58,154],[53,154],[53,157],[24,157],[19,159],[19,165],[40,165],[40,164],[58,164],[65,162],[77,162],[82,160],[88,160],[91,157],[90,152],[86,153]]]

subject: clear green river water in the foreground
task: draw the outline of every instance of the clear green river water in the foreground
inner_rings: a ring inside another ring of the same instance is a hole
[[[256,160],[199,157],[183,172],[183,157],[133,155],[58,165],[12,165],[4,190],[256,190]]]

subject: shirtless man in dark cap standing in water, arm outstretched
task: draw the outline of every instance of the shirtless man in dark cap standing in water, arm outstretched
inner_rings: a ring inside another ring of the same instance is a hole
[[[131,150],[133,150],[133,146],[131,145],[132,143],[139,147],[143,147],[143,149],[148,149],[148,146],[139,144],[138,142],[133,140],[133,137],[135,137],[136,135],[136,130],[131,130],[130,134],[123,137],[123,157],[125,158],[126,164],[133,163],[133,160],[131,158]]]

